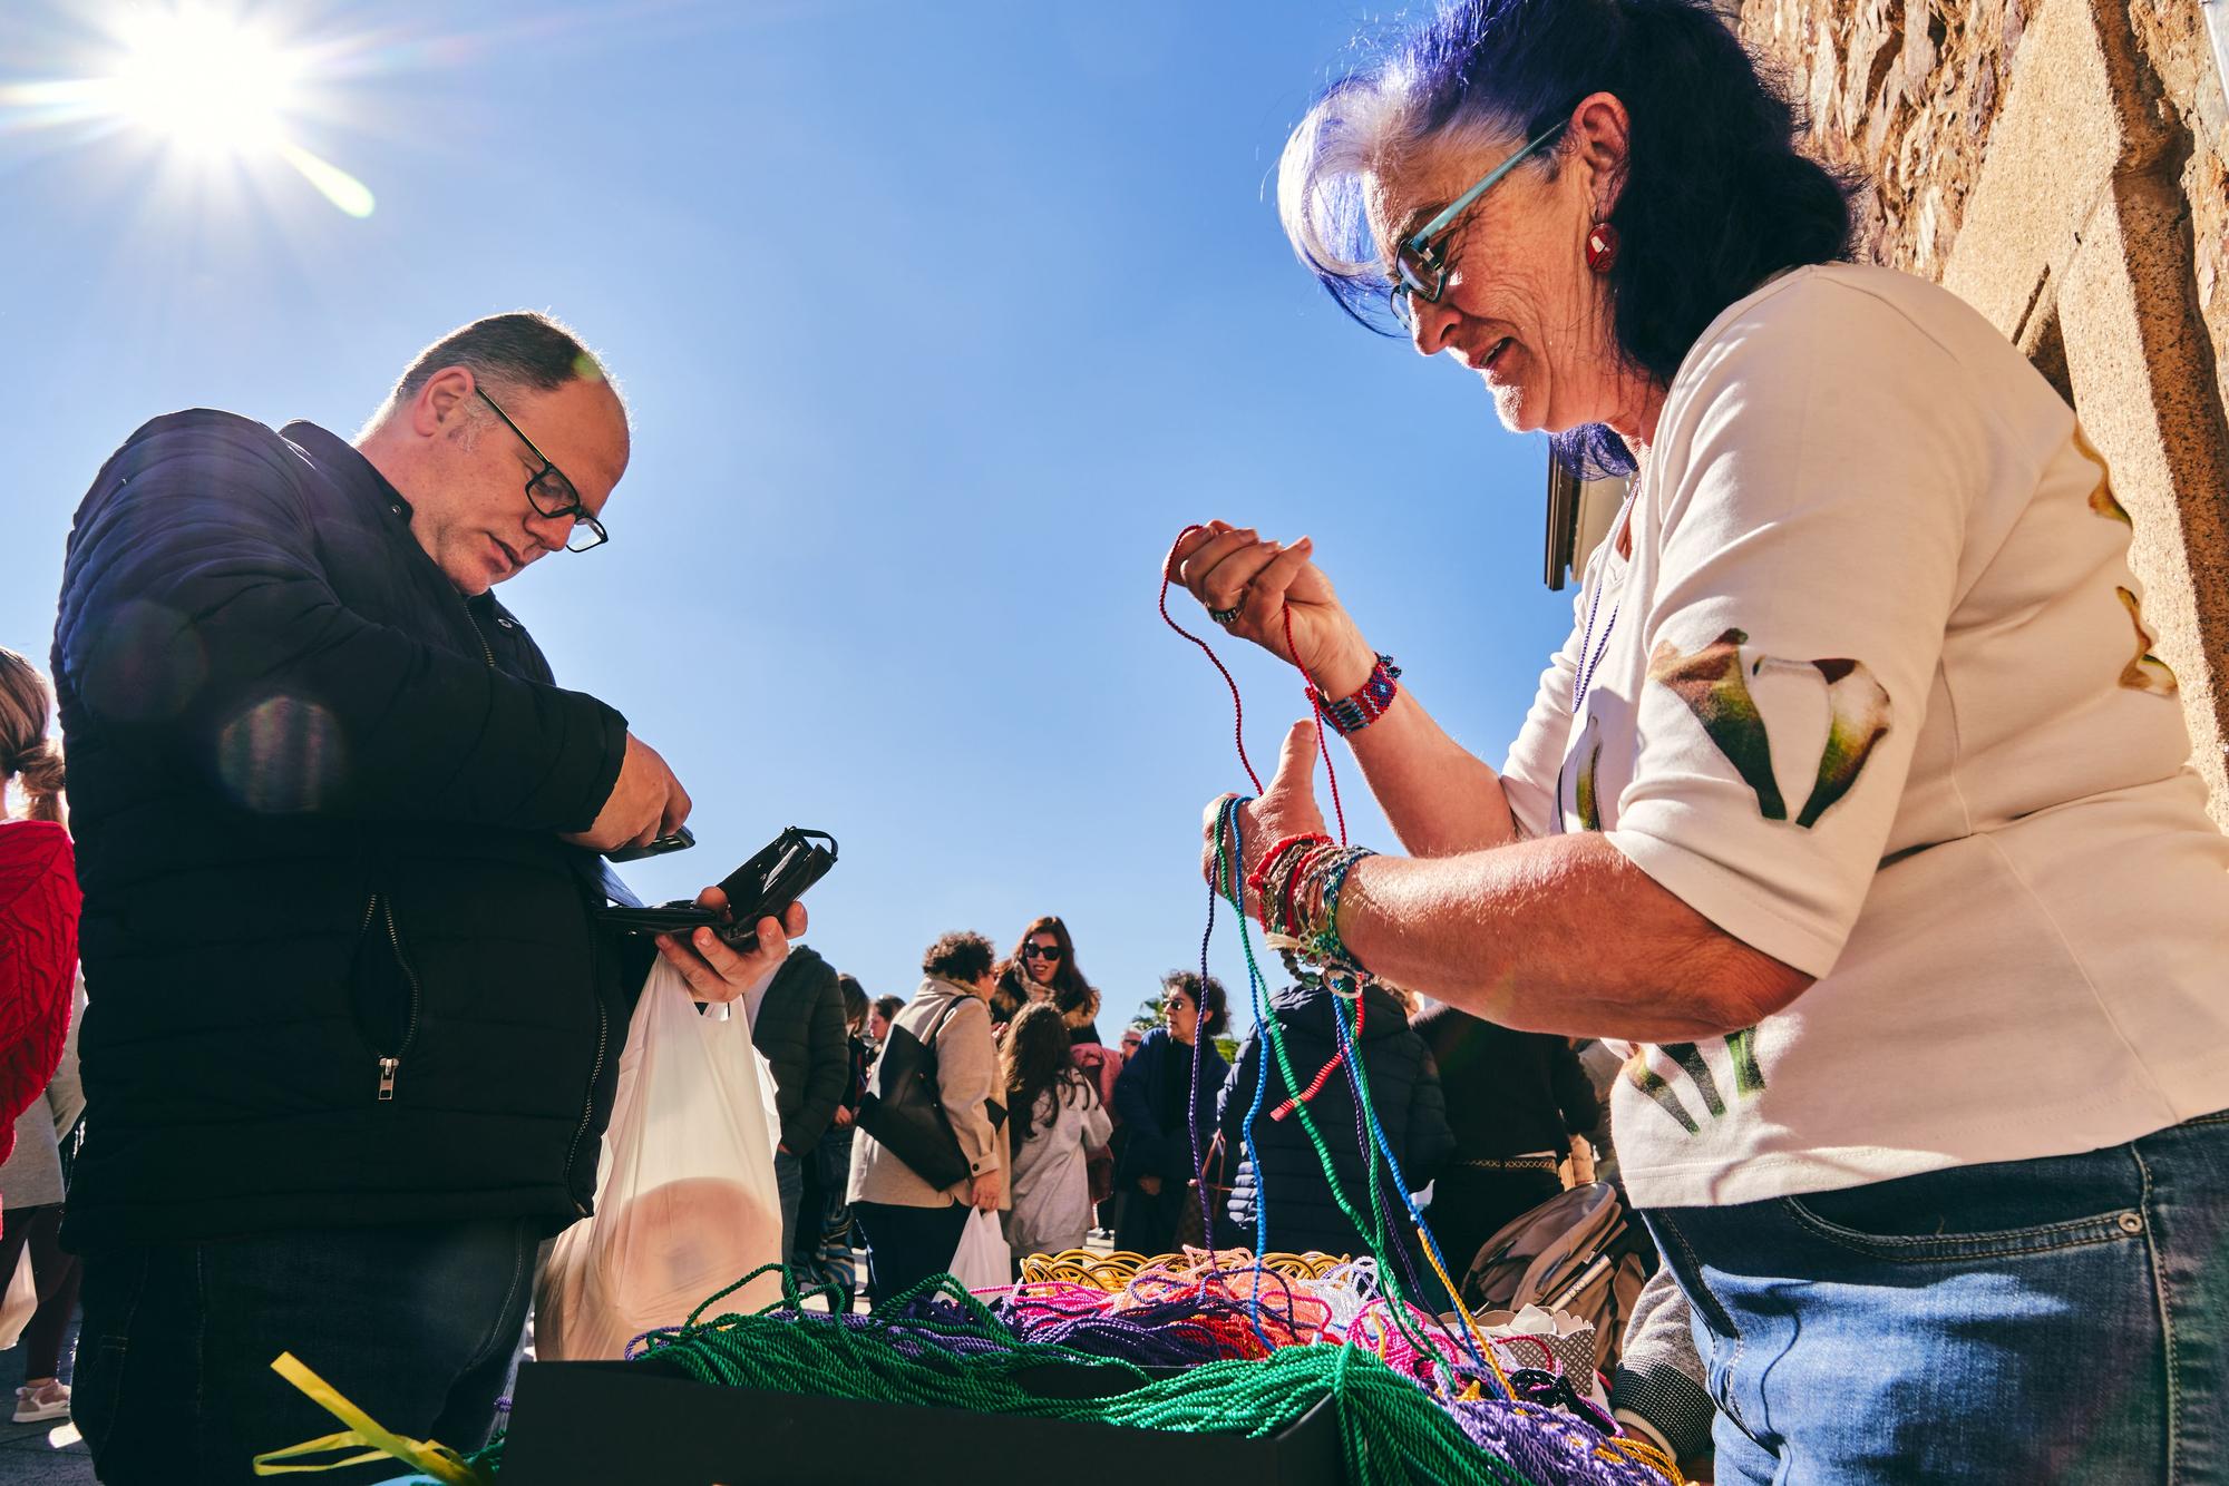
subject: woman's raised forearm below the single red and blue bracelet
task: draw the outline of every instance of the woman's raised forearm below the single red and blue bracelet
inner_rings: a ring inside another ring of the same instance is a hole
[[[1409,688],[1349,744],[1409,856],[1449,858],[1516,840],[1500,775],[1449,737]]]

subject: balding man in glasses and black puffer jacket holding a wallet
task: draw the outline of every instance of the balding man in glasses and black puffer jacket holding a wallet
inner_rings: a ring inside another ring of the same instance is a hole
[[[595,853],[689,815],[490,588],[600,546],[626,459],[580,339],[499,314],[419,354],[354,443],[178,412],[78,508],[65,1243],[105,1482],[245,1482],[330,1433],[270,1372],[288,1350],[399,1435],[486,1439],[535,1250],[593,1201],[646,971],[593,931]],[[798,909],[751,956],[660,951],[731,1000],[785,931]]]

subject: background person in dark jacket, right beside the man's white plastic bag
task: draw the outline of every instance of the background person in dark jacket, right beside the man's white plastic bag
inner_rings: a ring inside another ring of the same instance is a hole
[[[843,1025],[836,967],[796,945],[765,991],[753,991],[751,1045],[773,1069],[773,1107],[782,1138],[773,1152],[773,1181],[782,1194],[782,1254],[805,1268],[820,1248],[820,1216],[798,1225],[805,1161],[818,1156],[820,1136],[836,1118],[851,1078],[851,1047]],[[814,1190],[818,1199],[818,1187]]]

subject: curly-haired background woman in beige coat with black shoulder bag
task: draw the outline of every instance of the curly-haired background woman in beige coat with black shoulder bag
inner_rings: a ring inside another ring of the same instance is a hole
[[[990,1038],[990,994],[996,954],[981,933],[945,933],[921,956],[925,980],[892,1027],[934,1038],[936,1087],[972,1176],[932,1187],[896,1152],[858,1132],[851,1156],[851,1216],[867,1239],[867,1294],[874,1303],[952,1268],[967,1210],[1012,1205],[1005,1185],[1005,1141],[985,1101],[999,1092],[999,1049]],[[950,1016],[947,1016],[950,1011]],[[880,1098],[876,1063],[872,1092]]]

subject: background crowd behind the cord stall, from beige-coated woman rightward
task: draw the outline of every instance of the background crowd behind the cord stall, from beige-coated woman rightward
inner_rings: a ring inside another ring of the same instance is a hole
[[[1353,1092],[1320,1078],[1306,1098],[1331,1132],[1326,1172],[1302,1121],[1286,1118],[1302,1101],[1288,1098],[1275,1067],[1277,1098],[1257,1098],[1268,1029],[1233,1040],[1228,991],[1215,976],[1170,971],[1108,1045],[1097,1027],[1101,996],[1059,918],[1032,922],[1005,960],[983,936],[947,933],[921,969],[916,996],[883,1025],[934,1043],[941,1105],[970,1172],[934,1183],[874,1134],[858,1136],[849,1210],[831,1216],[858,1221],[872,1297],[889,1299],[945,1268],[970,1208],[1003,1216],[1016,1272],[1023,1254],[1083,1248],[1092,1234],[1148,1257],[1255,1243],[1264,1252],[1373,1250],[1373,1234],[1335,1194],[1362,1190],[1375,1161],[1353,1136]],[[1271,994],[1268,1014],[1295,1067],[1335,1067],[1331,998],[1311,978]],[[867,1056],[885,1040],[872,1038]],[[1406,991],[1373,985],[1355,1045],[1400,1179],[1429,1203],[1442,1250],[1458,1263],[1567,1176],[1594,1179],[1607,1121],[1571,1040],[1509,1032],[1449,1005],[1422,1009]],[[1444,1081],[1442,1067],[1458,1078]],[[896,1096],[887,1085],[869,1076],[880,1098]],[[1266,1190],[1275,1201],[1264,1208]],[[825,1236],[838,1239],[840,1228]],[[791,1261],[807,1257],[791,1245]]]

